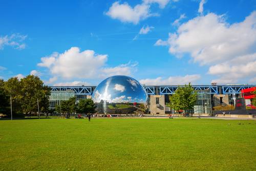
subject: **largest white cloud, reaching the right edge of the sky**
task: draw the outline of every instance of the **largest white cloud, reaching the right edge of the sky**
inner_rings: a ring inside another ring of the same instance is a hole
[[[209,13],[182,24],[177,33],[169,33],[169,52],[190,53],[201,65],[226,61],[255,51],[256,12],[241,23],[228,24],[223,15]]]

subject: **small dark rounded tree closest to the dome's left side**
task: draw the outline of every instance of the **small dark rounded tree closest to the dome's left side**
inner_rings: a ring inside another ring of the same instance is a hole
[[[96,105],[92,99],[81,99],[78,103],[78,112],[79,113],[95,113]]]

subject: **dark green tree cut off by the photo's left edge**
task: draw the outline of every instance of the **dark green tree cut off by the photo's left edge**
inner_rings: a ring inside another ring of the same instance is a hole
[[[4,80],[0,79],[0,113],[9,114],[10,97],[8,95],[8,92],[4,88],[4,84]]]

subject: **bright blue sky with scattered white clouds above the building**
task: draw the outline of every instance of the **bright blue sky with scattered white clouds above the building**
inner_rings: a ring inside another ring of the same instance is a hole
[[[201,5],[200,5],[201,4]],[[256,1],[0,1],[0,78],[256,84]]]

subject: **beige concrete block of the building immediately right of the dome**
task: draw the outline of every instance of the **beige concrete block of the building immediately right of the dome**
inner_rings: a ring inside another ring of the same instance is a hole
[[[159,105],[156,104],[156,98],[159,98]],[[150,95],[150,113],[153,115],[165,114],[164,95]]]

